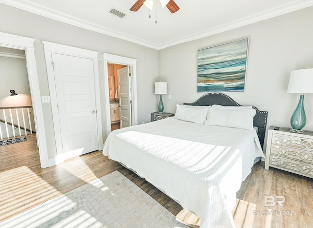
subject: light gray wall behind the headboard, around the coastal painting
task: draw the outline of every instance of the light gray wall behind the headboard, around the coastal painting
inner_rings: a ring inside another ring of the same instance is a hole
[[[268,111],[268,127],[291,127],[299,95],[287,94],[287,86],[291,70],[313,68],[312,21],[310,7],[160,50],[159,74],[172,95],[171,100],[163,96],[164,111],[175,112],[176,104],[194,102],[205,94],[197,93],[197,50],[248,37],[246,91],[225,94],[239,104]],[[307,130],[313,130],[312,104],[313,94],[306,94]]]

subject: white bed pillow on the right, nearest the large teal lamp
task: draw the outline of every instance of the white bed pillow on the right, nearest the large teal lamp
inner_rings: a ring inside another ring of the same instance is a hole
[[[252,130],[255,114],[254,108],[218,109],[212,106],[208,109],[208,115],[204,124]]]

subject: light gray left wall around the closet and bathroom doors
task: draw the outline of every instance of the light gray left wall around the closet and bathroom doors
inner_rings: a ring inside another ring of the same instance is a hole
[[[153,100],[155,96],[153,83],[158,75],[158,52],[156,50],[59,21],[53,21],[4,4],[0,4],[0,21],[5,21],[5,23],[0,23],[1,32],[35,39],[35,58],[41,95],[49,95],[44,47],[41,41],[50,41],[99,53],[110,53],[137,59],[138,123],[150,121],[150,113],[155,110],[155,105],[147,101]],[[98,58],[101,59],[102,54],[99,54]],[[104,84],[104,71],[101,60],[99,60],[99,68],[100,83]],[[108,101],[104,99],[103,88],[101,93],[101,103],[104,106]],[[43,104],[43,112],[48,158],[51,159],[56,155],[56,145],[52,111],[49,103]],[[103,118],[107,118],[105,113]],[[105,121],[102,122],[105,123]]]

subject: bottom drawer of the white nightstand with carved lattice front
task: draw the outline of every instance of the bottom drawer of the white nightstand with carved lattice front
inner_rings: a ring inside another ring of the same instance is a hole
[[[270,155],[269,164],[273,167],[284,168],[291,170],[298,174],[305,174],[306,176],[313,177],[313,165],[298,162],[289,158],[282,158],[275,155]]]

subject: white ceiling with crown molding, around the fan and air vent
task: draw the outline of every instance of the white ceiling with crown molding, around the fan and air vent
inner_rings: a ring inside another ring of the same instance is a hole
[[[129,9],[136,0],[0,0],[20,8],[91,31],[162,49],[313,6],[313,0],[175,0],[171,14],[156,0],[149,18],[144,5]],[[108,13],[114,8],[126,16]],[[157,23],[155,23],[157,17]]]

